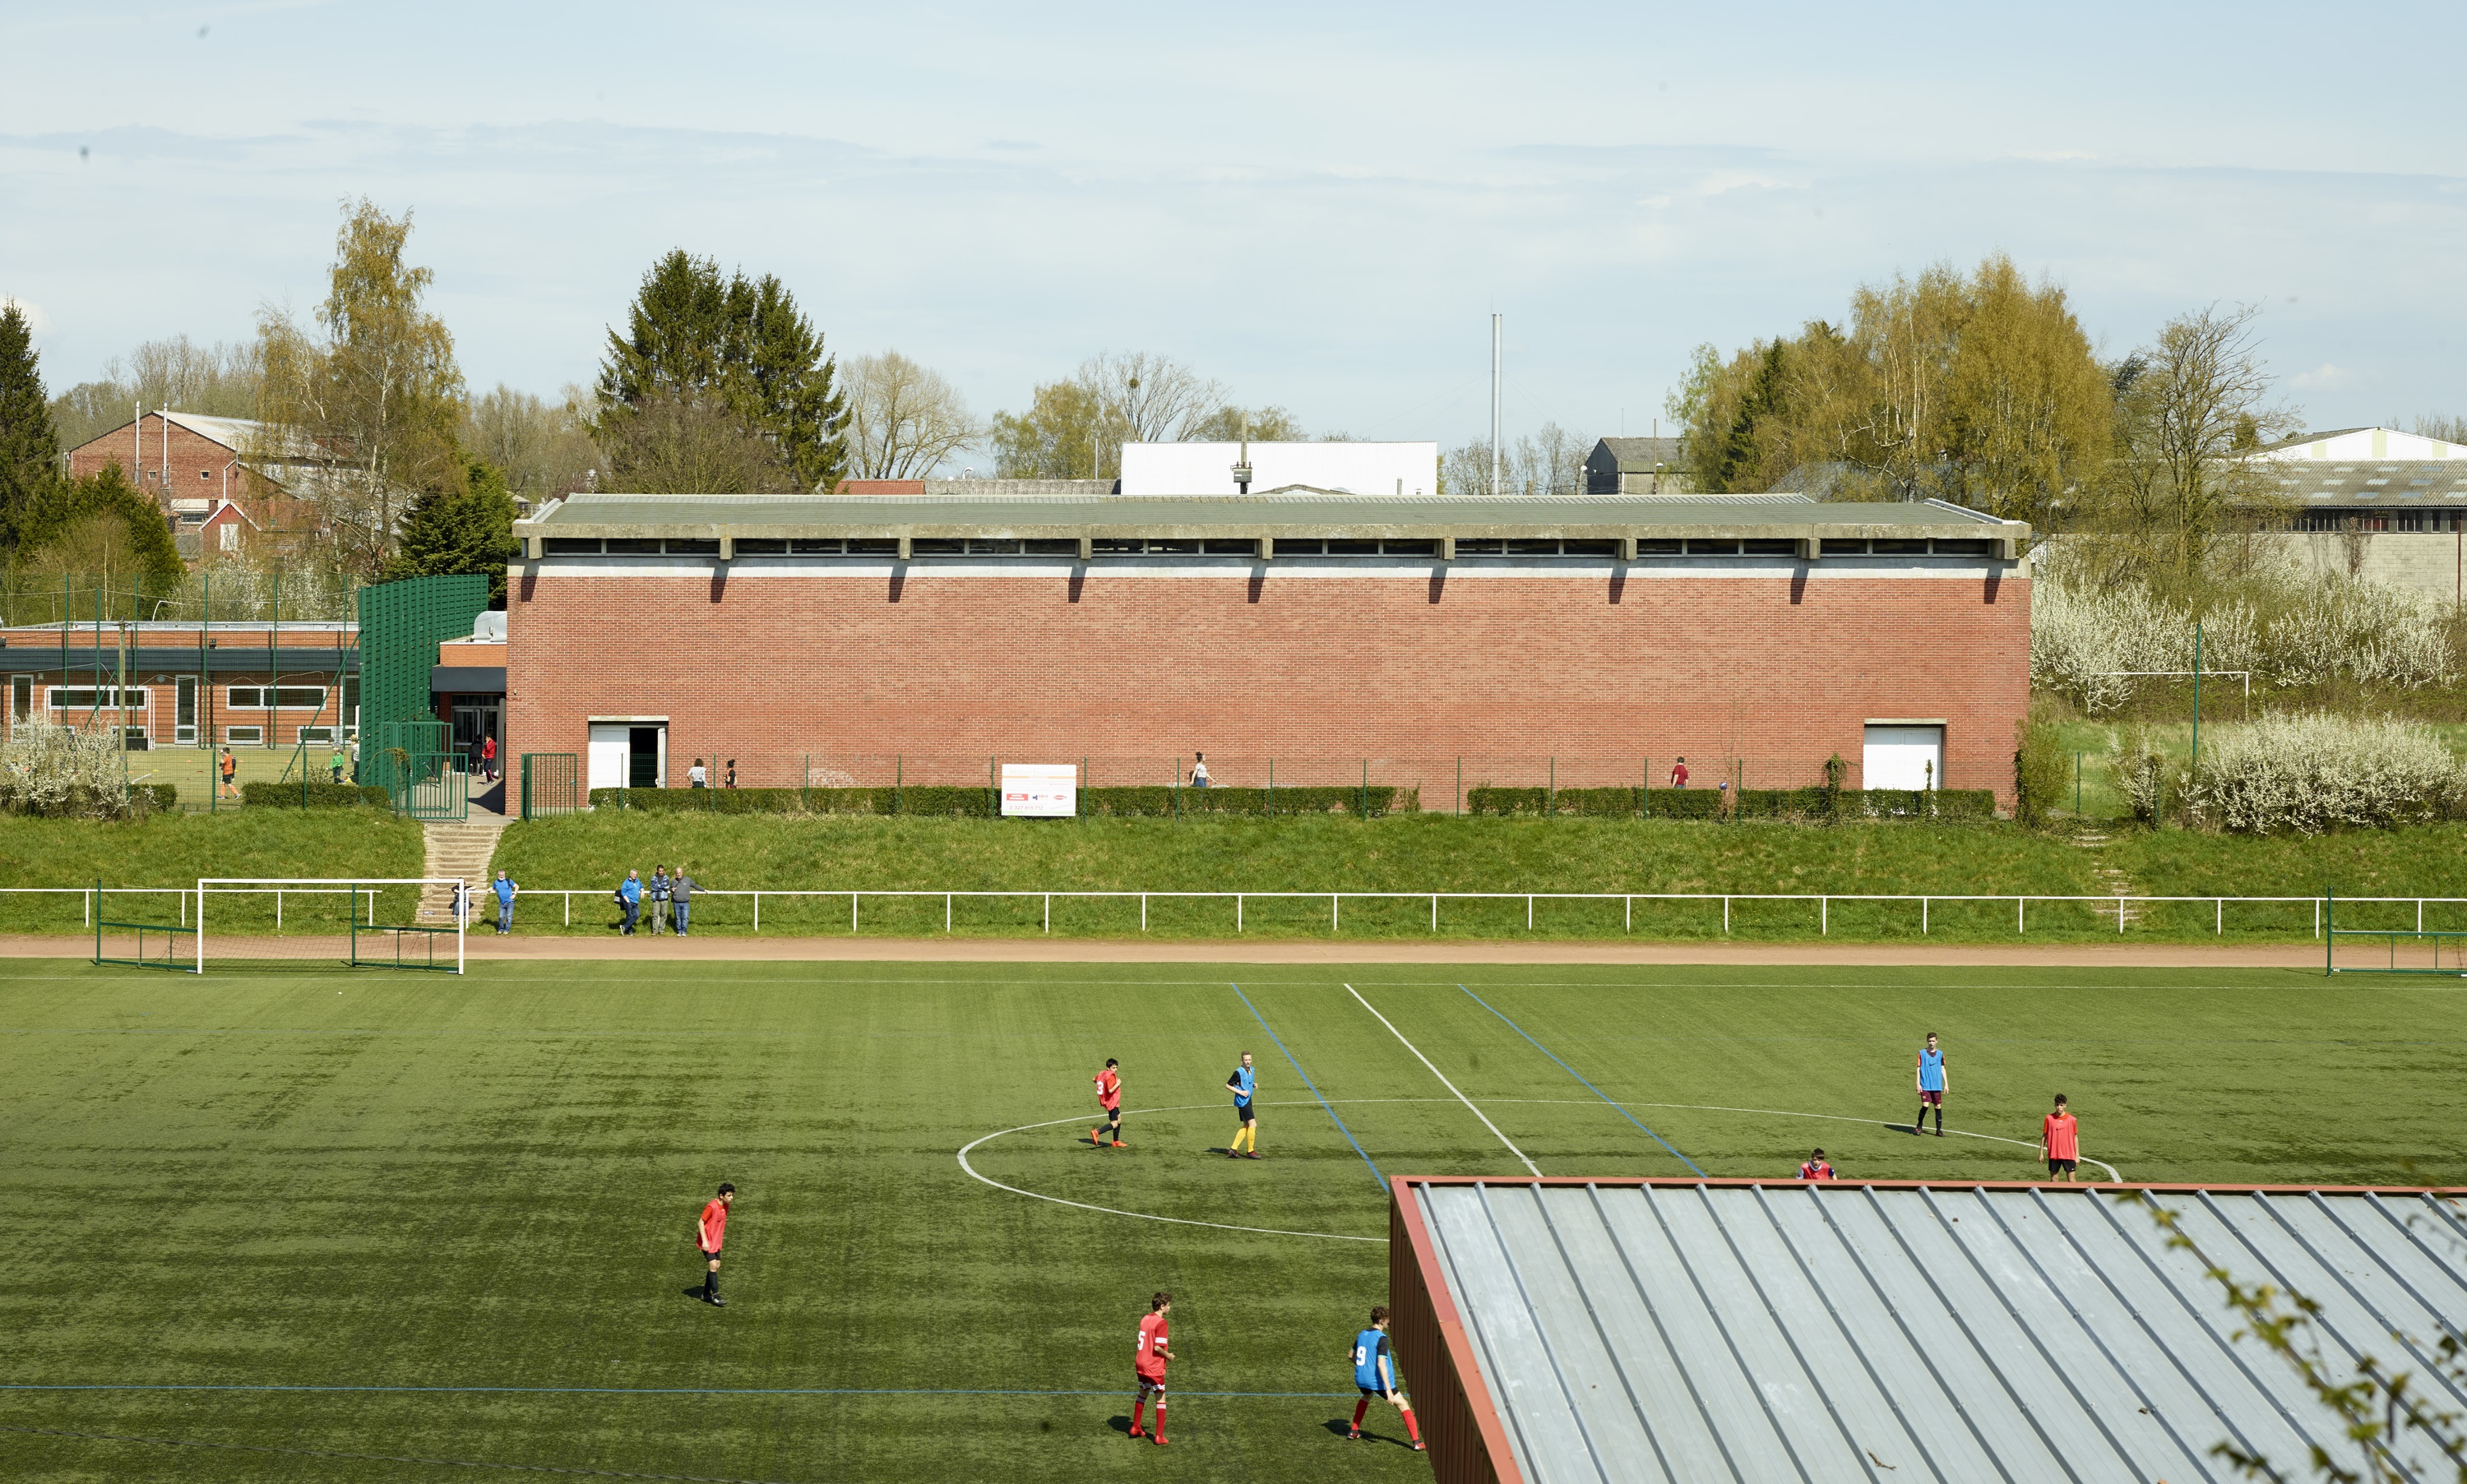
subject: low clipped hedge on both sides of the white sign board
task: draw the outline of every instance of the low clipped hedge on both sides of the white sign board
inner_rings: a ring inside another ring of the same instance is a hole
[[[992,789],[920,784],[905,789],[592,789],[595,809],[656,809],[666,813],[994,813]],[[1421,794],[1369,789],[1081,789],[1081,813],[1172,818],[1177,813],[1414,813]]]

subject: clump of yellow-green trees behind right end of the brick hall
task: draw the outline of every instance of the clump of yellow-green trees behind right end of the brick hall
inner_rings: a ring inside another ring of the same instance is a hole
[[[2260,311],[2205,306],[2102,360],[2065,288],[2011,256],[1865,283],[1840,323],[1700,345],[1668,412],[1695,488],[1942,498],[2040,532],[2117,537],[2146,572],[2198,574],[2240,523],[2282,515],[2243,459],[2292,434]]]

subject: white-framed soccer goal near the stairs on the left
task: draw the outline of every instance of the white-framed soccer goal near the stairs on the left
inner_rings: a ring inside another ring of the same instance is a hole
[[[210,875],[195,910],[197,974],[210,964],[461,974],[471,890],[451,875]]]

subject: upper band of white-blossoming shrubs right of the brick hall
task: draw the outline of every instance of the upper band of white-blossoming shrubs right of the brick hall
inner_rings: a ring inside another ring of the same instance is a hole
[[[2048,562],[2030,594],[2030,685],[2112,712],[2136,680],[2117,671],[2191,671],[2193,609],[2139,582],[2102,582]],[[2265,616],[2267,614],[2267,616]],[[2346,574],[2270,572],[2247,599],[2198,614],[2203,671],[2252,671],[2257,685],[2450,685],[2460,678],[2447,614],[2403,587]]]

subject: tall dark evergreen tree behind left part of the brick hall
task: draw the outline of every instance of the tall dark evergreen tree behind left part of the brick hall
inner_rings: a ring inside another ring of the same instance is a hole
[[[723,279],[715,261],[676,249],[644,274],[627,330],[609,330],[595,431],[614,449],[644,404],[715,397],[780,451],[799,488],[829,491],[849,473],[834,372],[822,333],[780,279]]]

